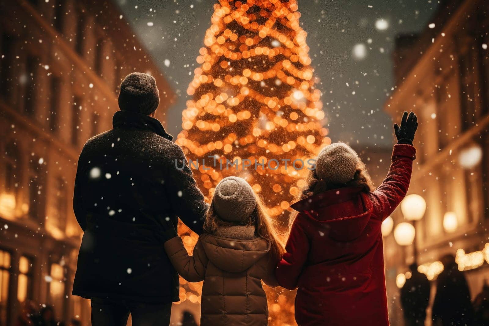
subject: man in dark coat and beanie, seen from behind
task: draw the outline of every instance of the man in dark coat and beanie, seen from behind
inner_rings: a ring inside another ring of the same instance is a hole
[[[84,230],[73,294],[91,299],[92,325],[169,325],[178,274],[161,223],[177,217],[198,234],[207,210],[188,162],[154,118],[155,79],[121,83],[113,129],[87,141],[78,161],[73,209]]]

